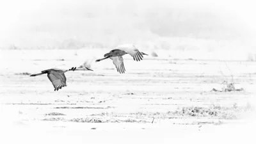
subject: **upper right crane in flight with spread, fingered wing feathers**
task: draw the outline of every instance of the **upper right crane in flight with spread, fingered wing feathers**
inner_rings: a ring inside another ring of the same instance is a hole
[[[124,56],[124,54],[130,54],[134,61],[140,61],[142,60],[143,55],[148,55],[144,52],[140,52],[138,49],[136,49],[136,47],[134,47],[134,45],[132,45],[132,47],[117,47],[117,49],[113,49],[112,51],[104,54],[105,58],[96,60],[96,62],[110,58],[111,60],[113,60],[117,72],[123,74],[125,72],[124,59],[122,57]]]

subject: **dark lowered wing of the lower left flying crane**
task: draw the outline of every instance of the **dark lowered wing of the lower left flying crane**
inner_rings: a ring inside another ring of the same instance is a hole
[[[65,75],[59,74],[59,73],[48,73],[47,77],[50,79],[50,81],[52,82],[53,86],[54,86],[54,91],[58,91],[59,89],[61,89],[64,86],[67,86],[66,84],[66,77]]]

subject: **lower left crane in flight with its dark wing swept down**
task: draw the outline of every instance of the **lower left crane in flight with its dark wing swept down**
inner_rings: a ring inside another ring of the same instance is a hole
[[[54,91],[58,91],[59,89],[61,89],[62,87],[67,86],[66,84],[66,77],[64,75],[65,72],[68,71],[75,71],[75,70],[91,70],[90,68],[87,67],[72,67],[68,70],[62,70],[60,68],[51,68],[48,70],[43,70],[41,73],[39,74],[31,74],[31,77],[35,77],[35,76],[39,76],[42,74],[47,74],[47,77],[50,79],[50,81],[52,82],[53,86],[54,86]],[[93,70],[92,70],[93,71]]]

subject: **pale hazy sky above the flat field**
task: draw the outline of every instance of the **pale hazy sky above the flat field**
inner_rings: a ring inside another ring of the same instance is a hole
[[[247,42],[255,38],[255,13],[253,1],[4,1],[0,47],[60,47],[70,39],[106,47],[161,38]]]

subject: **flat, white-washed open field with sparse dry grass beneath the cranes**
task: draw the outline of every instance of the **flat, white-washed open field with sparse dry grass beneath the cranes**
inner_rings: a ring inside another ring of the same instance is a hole
[[[125,74],[116,72],[111,60],[92,63],[93,72],[65,73],[68,86],[58,92],[46,75],[29,77],[56,65],[78,67],[90,58],[102,58],[105,52],[1,51],[0,125],[4,129],[0,132],[6,136],[1,135],[31,143],[43,136],[42,143],[47,138],[64,143],[114,143],[116,137],[129,137],[122,143],[134,138],[170,143],[214,136],[213,143],[225,134],[230,137],[223,138],[233,138],[228,142],[244,138],[243,134],[252,136],[243,131],[255,126],[250,123],[254,122],[256,93],[256,63],[252,61],[159,54],[137,62],[127,55]],[[223,81],[234,82],[239,91],[212,91],[225,88]]]

